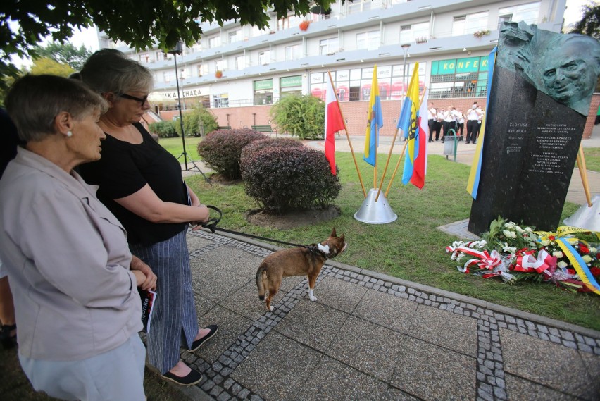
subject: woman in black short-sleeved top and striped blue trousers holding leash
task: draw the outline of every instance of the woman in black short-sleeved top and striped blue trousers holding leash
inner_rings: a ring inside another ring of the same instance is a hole
[[[180,359],[180,348],[194,352],[218,331],[199,328],[186,234],[188,223],[208,221],[208,209],[183,182],[181,166],[139,123],[150,108],[150,71],[113,49],[101,49],[85,62],[80,77],[101,94],[108,111],[100,118],[106,133],[102,159],[82,166],[88,183],[129,234],[133,254],[158,276],[149,362],[162,377],[181,385],[202,375]]]

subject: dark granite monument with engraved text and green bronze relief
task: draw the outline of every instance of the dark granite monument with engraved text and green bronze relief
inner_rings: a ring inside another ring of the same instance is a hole
[[[470,232],[498,216],[538,230],[559,225],[599,74],[596,39],[503,24]]]

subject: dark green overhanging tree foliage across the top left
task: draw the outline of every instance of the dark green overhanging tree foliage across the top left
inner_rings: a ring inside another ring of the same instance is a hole
[[[333,0],[54,0],[4,1],[0,7],[0,74],[15,75],[11,54],[20,57],[47,36],[65,42],[73,28],[96,25],[106,35],[135,49],[173,49],[177,42],[192,45],[201,37],[199,23],[239,20],[265,27],[270,15],[309,12],[314,4],[329,7]],[[9,26],[12,21],[12,29]]]

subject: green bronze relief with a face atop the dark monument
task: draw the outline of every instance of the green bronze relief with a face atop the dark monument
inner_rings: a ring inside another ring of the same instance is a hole
[[[496,65],[523,75],[537,90],[587,116],[600,75],[600,42],[523,22],[503,23]]]

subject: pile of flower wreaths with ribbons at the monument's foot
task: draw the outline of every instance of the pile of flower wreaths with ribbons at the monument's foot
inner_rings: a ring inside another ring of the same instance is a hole
[[[556,233],[521,227],[504,218],[492,221],[478,241],[446,247],[458,271],[482,278],[500,277],[554,285],[600,295],[600,233],[561,226]]]

